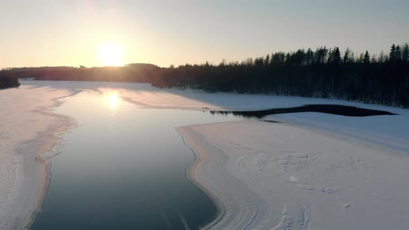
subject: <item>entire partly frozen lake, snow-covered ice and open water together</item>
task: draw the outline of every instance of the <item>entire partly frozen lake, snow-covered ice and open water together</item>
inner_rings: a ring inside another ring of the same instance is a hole
[[[0,93],[0,228],[31,224],[38,204],[32,229],[198,229],[214,204],[231,229],[407,226],[407,109],[112,82],[26,81]],[[53,152],[72,121],[51,108],[78,123]]]

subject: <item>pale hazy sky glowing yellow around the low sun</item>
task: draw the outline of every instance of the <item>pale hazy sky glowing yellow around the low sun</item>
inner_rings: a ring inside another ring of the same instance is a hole
[[[121,64],[168,67],[317,46],[389,52],[392,43],[409,42],[408,0],[0,0],[0,6],[0,68],[103,66],[107,43],[120,47]]]

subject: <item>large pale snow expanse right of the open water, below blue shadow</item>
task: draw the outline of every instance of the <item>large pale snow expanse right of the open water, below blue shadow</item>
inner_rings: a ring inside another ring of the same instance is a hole
[[[409,224],[409,155],[399,148],[286,123],[238,121],[177,130],[200,156],[189,168],[191,180],[205,187],[220,210],[205,229]]]

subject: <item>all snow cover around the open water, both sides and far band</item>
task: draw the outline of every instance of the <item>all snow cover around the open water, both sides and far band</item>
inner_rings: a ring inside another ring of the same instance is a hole
[[[278,114],[270,121],[178,127],[198,161],[189,179],[216,203],[213,229],[407,229],[409,111],[344,100],[207,94],[120,82],[21,81],[0,91],[0,229],[39,210],[49,152],[74,121],[53,114],[81,90],[114,92],[139,107],[256,110],[351,105],[397,116]]]

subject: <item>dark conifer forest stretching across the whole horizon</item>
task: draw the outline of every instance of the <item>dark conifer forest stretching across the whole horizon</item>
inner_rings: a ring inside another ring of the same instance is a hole
[[[347,48],[308,48],[270,53],[242,62],[157,67],[24,67],[3,69],[8,78],[148,82],[178,87],[248,94],[340,98],[409,107],[409,47],[393,44],[388,53],[360,54]],[[0,81],[1,85],[1,81]]]

